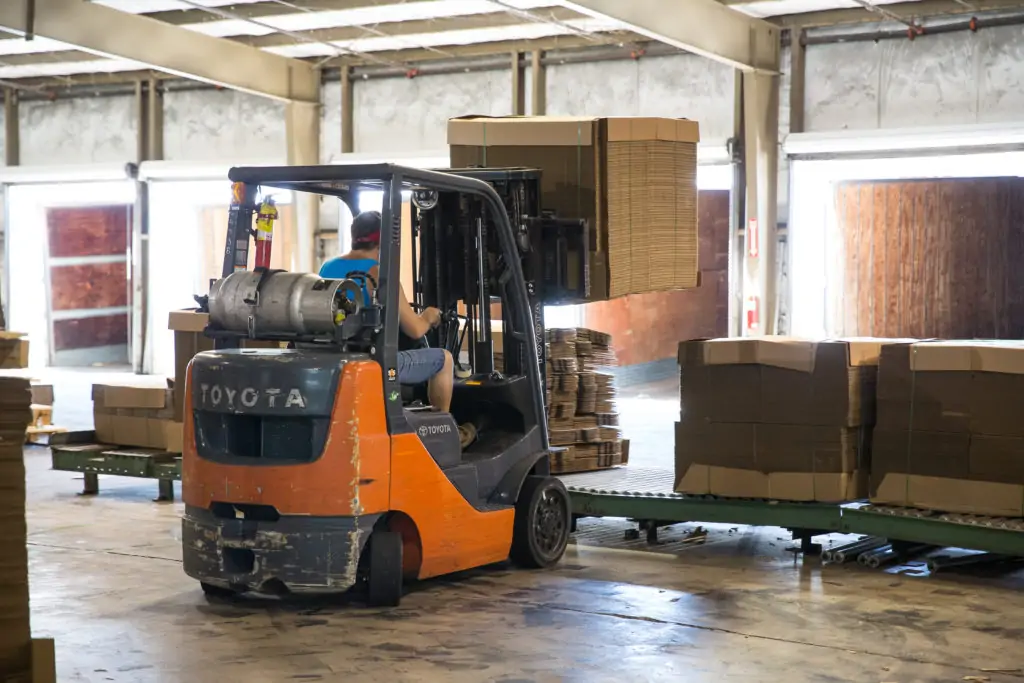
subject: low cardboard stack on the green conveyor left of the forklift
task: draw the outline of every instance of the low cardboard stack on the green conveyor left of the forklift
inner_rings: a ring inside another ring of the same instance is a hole
[[[174,420],[173,393],[153,386],[93,384],[96,439],[181,453],[181,423]]]

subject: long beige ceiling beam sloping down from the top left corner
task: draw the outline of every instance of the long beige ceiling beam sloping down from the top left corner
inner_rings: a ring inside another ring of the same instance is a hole
[[[225,88],[318,101],[319,74],[312,65],[83,0],[4,0],[0,31],[24,36],[30,1],[37,36]]]

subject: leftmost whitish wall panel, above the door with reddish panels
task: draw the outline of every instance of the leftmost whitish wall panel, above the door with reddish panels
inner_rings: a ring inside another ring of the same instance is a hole
[[[23,101],[22,164],[129,162],[137,154],[131,96]]]

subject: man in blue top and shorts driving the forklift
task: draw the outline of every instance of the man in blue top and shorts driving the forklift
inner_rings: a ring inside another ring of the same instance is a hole
[[[327,261],[319,269],[321,278],[344,280],[354,272],[364,272],[362,296],[370,305],[380,268],[381,214],[364,211],[352,219],[352,249],[347,254]],[[413,310],[401,285],[398,286],[398,326],[410,339],[422,339],[430,330],[440,325],[441,312],[434,306],[425,307],[420,313]],[[455,382],[455,364],[447,349],[415,348],[398,351],[398,382],[411,386],[427,384],[430,405],[441,413],[452,410],[452,390]],[[459,425],[459,441],[463,450],[476,439],[476,426]]]

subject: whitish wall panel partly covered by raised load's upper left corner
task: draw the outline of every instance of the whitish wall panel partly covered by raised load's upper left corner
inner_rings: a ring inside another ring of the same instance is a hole
[[[447,120],[512,110],[508,70],[356,81],[355,152],[402,153],[447,145]]]

